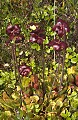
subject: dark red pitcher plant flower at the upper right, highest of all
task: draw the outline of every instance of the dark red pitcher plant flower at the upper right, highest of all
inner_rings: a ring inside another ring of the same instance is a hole
[[[62,19],[58,19],[56,25],[52,28],[59,37],[62,37],[66,32],[70,32],[70,28],[67,22]]]

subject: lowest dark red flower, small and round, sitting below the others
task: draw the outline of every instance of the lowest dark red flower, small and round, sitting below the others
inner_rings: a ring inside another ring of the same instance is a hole
[[[19,67],[19,73],[22,76],[27,76],[31,72],[31,68],[27,66],[26,64],[22,64]]]

